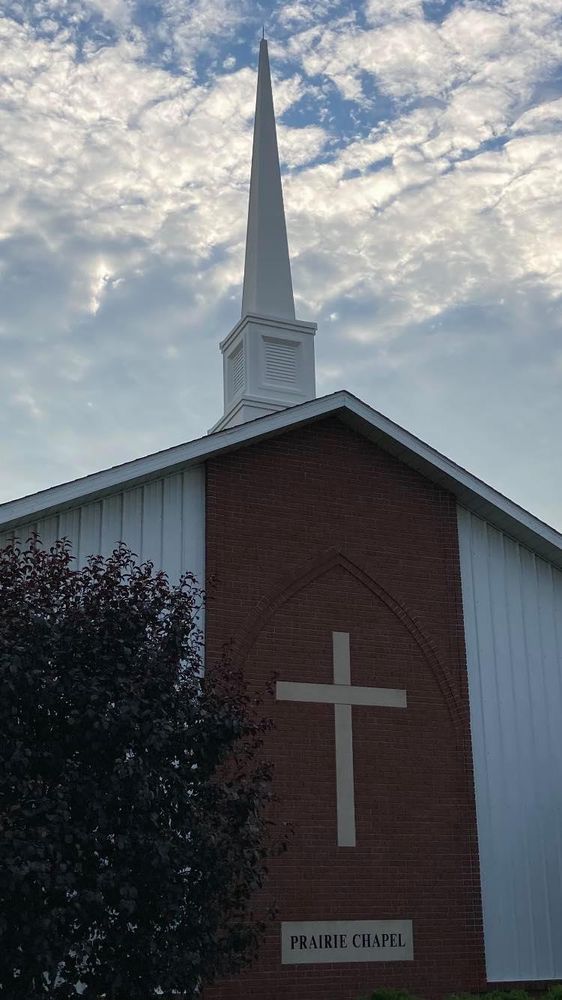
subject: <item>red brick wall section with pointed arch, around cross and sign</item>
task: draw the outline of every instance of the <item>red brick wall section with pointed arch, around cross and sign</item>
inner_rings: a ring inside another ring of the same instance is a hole
[[[406,710],[354,707],[357,847],[338,848],[334,709],[276,703],[268,754],[279,908],[258,962],[206,1000],[356,1000],[485,986],[454,499],[329,418],[207,466],[208,655],[234,639],[252,684],[405,688]],[[280,920],[411,919],[413,962],[282,966]]]

